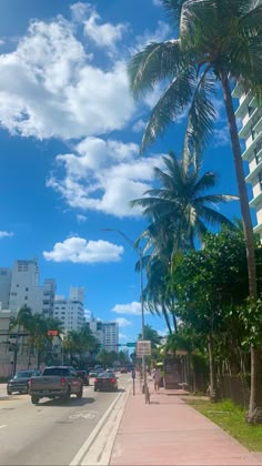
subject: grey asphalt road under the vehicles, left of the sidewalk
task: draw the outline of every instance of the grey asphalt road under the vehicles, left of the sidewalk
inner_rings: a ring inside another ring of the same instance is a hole
[[[94,392],[91,385],[82,399],[43,398],[37,406],[28,395],[8,397],[1,391],[0,465],[70,465],[129,384],[129,374],[119,375],[118,393]]]

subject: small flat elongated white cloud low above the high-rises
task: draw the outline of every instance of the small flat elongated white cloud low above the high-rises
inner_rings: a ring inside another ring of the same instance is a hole
[[[53,250],[44,251],[47,261],[72,263],[119,262],[123,247],[108,241],[87,241],[82,237],[69,237],[63,243],[56,243]]]

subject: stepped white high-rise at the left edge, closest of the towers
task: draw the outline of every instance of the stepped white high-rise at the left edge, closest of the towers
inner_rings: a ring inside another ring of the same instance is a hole
[[[32,314],[53,314],[56,281],[46,280],[39,285],[38,260],[18,260],[12,269],[0,269],[0,302],[2,310],[10,310],[12,314],[27,305]]]

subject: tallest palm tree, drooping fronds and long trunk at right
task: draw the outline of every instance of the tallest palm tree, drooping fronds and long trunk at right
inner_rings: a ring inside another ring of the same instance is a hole
[[[204,148],[216,116],[212,101],[221,85],[243,217],[250,298],[258,297],[253,229],[241,159],[241,146],[231,95],[232,80],[261,97],[262,6],[254,0],[163,0],[178,27],[175,39],[151,43],[129,65],[135,98],[157,84],[164,91],[153,108],[142,141],[142,151],[188,109],[187,144]],[[168,82],[168,85],[167,85]],[[262,363],[251,350],[249,422],[262,422]],[[260,382],[261,381],[261,382]]]

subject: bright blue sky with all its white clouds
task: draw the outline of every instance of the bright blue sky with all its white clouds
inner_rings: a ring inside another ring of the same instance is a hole
[[[134,103],[130,57],[172,37],[160,0],[1,0],[0,146],[1,266],[38,256],[41,283],[58,294],[85,287],[87,314],[120,323],[121,341],[141,328],[135,240],[145,226],[129,201],[153,183],[153,166],[179,153],[183,121],[144,158],[139,144],[158,91]],[[204,154],[218,193],[236,194],[223,104]],[[223,206],[240,216],[239,203]],[[164,322],[145,316],[165,332]]]

